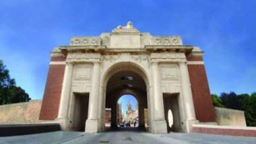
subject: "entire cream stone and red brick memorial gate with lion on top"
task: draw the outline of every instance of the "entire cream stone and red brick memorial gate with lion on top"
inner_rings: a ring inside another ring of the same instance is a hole
[[[115,119],[111,127],[117,125],[117,100],[123,94],[137,98],[141,127],[147,109],[152,133],[167,133],[164,108],[176,111],[173,117],[179,117],[183,132],[191,131],[193,123],[216,122],[203,52],[183,45],[179,36],[141,33],[131,22],[100,36],[71,38],[69,46],[51,52],[40,119],[71,129],[79,119],[74,117],[76,94],[89,98],[86,133],[104,131],[106,108]],[[176,100],[176,109],[164,106],[170,103],[164,102],[164,94],[177,96],[166,98]]]

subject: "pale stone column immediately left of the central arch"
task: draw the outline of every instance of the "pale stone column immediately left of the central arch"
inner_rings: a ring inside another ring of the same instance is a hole
[[[89,111],[86,121],[86,133],[98,132],[98,100],[100,88],[100,62],[94,62],[92,68],[92,89],[89,96]]]

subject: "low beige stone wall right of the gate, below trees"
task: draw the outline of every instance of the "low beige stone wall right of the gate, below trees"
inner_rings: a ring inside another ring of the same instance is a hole
[[[246,126],[244,111],[215,107],[218,125]]]

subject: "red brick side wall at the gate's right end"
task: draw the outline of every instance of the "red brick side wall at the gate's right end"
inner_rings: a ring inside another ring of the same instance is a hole
[[[202,61],[201,57],[187,58],[189,61]],[[200,122],[216,122],[210,88],[203,64],[188,64],[195,115]]]

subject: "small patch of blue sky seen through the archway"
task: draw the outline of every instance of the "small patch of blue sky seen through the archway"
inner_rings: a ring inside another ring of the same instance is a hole
[[[125,115],[126,111],[127,111],[127,104],[131,104],[131,107],[133,110],[136,109],[137,106],[137,100],[136,98],[131,95],[131,94],[124,94],[123,96],[121,96],[119,98],[119,100],[117,101],[119,104],[121,104],[122,106],[122,114]]]

